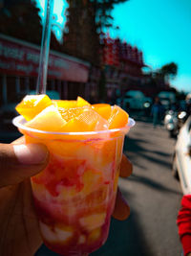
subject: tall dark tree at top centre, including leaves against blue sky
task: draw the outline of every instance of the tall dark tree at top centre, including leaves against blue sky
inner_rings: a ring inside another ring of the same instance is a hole
[[[70,54],[100,65],[100,35],[112,27],[114,6],[128,0],[68,0],[64,49]]]

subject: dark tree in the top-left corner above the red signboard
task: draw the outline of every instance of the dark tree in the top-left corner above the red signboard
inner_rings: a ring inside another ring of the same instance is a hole
[[[34,0],[5,1],[0,10],[0,33],[40,45],[42,38],[41,17]],[[52,33],[51,48],[60,45]]]

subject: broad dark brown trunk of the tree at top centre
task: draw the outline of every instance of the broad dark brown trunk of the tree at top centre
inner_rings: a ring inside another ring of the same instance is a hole
[[[96,33],[95,12],[90,1],[68,0],[67,22],[64,28],[64,51],[74,57],[99,62],[99,38]]]

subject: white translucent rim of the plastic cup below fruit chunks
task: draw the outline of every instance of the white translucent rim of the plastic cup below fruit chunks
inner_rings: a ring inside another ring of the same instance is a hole
[[[12,120],[12,124],[17,128],[21,128],[23,130],[41,133],[41,134],[43,133],[43,134],[53,134],[53,135],[96,135],[96,134],[104,134],[104,133],[113,133],[117,131],[123,131],[124,133],[126,133],[130,128],[133,128],[136,125],[135,120],[129,117],[127,126],[125,126],[124,128],[112,128],[112,129],[104,129],[104,130],[96,130],[96,131],[60,132],[60,131],[45,131],[45,130],[40,130],[36,128],[28,128],[25,126],[26,122],[27,121],[25,120],[25,118],[21,115],[14,117]]]

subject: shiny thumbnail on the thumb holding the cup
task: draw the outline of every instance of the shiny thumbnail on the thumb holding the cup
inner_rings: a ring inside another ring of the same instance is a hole
[[[43,164],[49,153],[46,146],[40,144],[14,145],[13,149],[18,162],[24,165]]]

